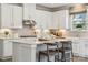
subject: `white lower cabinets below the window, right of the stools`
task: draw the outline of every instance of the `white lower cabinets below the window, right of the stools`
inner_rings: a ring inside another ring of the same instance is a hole
[[[74,56],[88,57],[88,41],[78,40],[72,43]]]

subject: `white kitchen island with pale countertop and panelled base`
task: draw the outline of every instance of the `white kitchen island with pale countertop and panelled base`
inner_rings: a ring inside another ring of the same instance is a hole
[[[12,40],[13,42],[13,62],[36,62],[37,45],[43,43],[53,43],[68,41],[70,39],[56,39],[50,41],[38,41],[37,37]]]

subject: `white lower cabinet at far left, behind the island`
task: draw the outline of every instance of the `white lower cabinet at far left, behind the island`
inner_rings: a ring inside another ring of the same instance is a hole
[[[6,59],[12,56],[12,42],[0,40],[0,58]]]

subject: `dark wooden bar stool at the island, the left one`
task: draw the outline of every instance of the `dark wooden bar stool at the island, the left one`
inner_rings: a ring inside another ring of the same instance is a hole
[[[58,53],[58,58],[59,58],[59,46],[58,46],[58,42],[56,43],[45,43],[47,45],[47,50],[46,51],[39,51],[39,62],[40,62],[40,56],[43,55],[43,56],[47,56],[47,61],[48,62],[51,62],[50,61],[50,55],[55,55],[56,53]],[[50,46],[56,46],[56,48],[49,48]]]

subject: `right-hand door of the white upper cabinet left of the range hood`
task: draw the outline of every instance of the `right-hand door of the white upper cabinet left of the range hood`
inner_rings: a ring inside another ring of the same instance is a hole
[[[13,28],[22,28],[22,8],[13,6]]]

